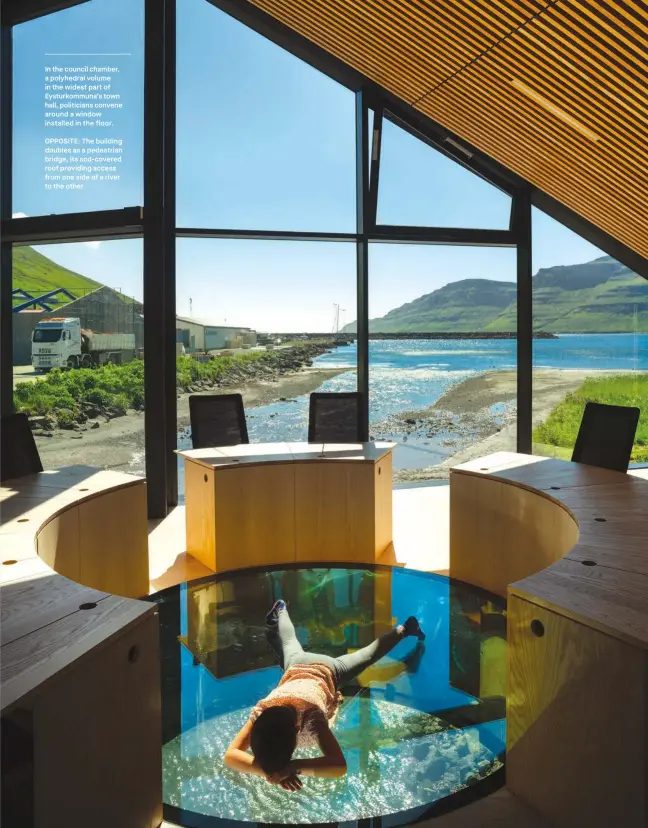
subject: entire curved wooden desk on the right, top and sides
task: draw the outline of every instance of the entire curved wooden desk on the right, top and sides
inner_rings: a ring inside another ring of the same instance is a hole
[[[508,595],[507,785],[648,823],[648,483],[499,453],[452,469],[450,575]]]

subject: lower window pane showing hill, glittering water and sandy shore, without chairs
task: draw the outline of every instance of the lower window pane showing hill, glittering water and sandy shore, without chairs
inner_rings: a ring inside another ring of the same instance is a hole
[[[370,246],[370,435],[396,481],[515,450],[515,279],[511,249]]]

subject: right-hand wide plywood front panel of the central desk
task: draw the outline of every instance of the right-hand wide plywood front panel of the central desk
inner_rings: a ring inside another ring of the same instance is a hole
[[[298,463],[294,468],[297,559],[373,563],[374,464],[335,460]],[[382,531],[384,537],[384,526]]]

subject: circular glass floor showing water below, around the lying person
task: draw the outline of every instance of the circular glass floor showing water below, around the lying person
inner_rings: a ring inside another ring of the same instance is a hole
[[[298,793],[226,768],[251,708],[279,682],[265,614],[288,602],[304,649],[338,656],[416,615],[405,639],[342,688],[334,732],[342,779],[307,777]],[[503,602],[441,576],[391,567],[240,570],[152,596],[162,649],[165,817],[225,822],[405,825],[503,784]]]

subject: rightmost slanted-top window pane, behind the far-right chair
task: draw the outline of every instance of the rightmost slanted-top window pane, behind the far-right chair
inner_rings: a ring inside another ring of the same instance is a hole
[[[638,406],[648,462],[648,281],[533,214],[533,451],[569,459],[587,402]]]

